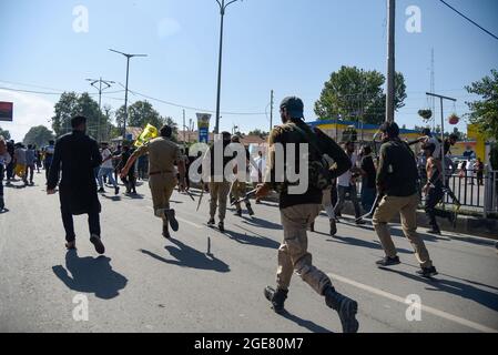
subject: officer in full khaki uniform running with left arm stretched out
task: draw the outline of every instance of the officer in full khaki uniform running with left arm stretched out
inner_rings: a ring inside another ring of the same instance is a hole
[[[162,126],[161,136],[139,148],[130,156],[120,174],[121,179],[125,178],[136,159],[149,153],[149,186],[152,193],[154,215],[163,220],[163,236],[169,240],[171,239],[169,225],[174,232],[179,230],[175,211],[170,209],[170,197],[176,185],[180,191],[185,190],[185,164],[181,159],[180,146],[171,140],[172,133],[171,126]],[[176,179],[175,162],[179,166],[180,181]]]

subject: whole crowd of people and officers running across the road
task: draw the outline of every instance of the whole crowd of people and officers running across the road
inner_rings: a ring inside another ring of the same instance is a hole
[[[248,164],[240,166],[240,163],[236,163],[228,169],[227,165],[238,153],[233,156],[223,154],[218,156],[221,173],[215,166],[216,150],[213,146],[205,153],[187,156],[191,154],[173,142],[173,131],[167,125],[160,129],[160,136],[140,148],[123,143],[111,149],[105,142],[99,146],[96,141],[85,134],[87,118],[75,116],[71,121],[73,132],[60,138],[57,144],[49,142],[49,145],[41,150],[31,145],[23,148],[22,144],[13,142],[3,144],[6,146],[2,149],[0,144],[0,174],[3,175],[3,166],[7,166],[8,183],[18,174],[29,184],[32,183],[34,169],[40,169],[41,163],[47,171],[47,193],[54,194],[59,186],[67,248],[77,247],[73,215],[88,214],[90,241],[100,254],[105,252],[105,247],[101,240],[102,207],[99,193],[105,193],[104,183],[108,183],[118,195],[118,178],[126,187],[126,194],[136,194],[136,179],[148,178],[154,215],[162,220],[162,235],[167,240],[172,239],[170,229],[173,232],[180,229],[170,199],[176,187],[180,192],[189,193],[193,185],[190,172],[196,159],[202,160],[200,169],[203,178],[199,187],[203,194],[210,194],[207,226],[217,226],[222,233],[226,227],[228,201],[235,206],[236,216],[242,216],[243,205],[250,215],[254,215],[251,197],[258,204],[268,194],[276,192],[284,239],[278,248],[276,287],[265,287],[264,295],[273,310],[282,313],[292,275],[296,273],[325,298],[328,307],[337,312],[343,331],[354,333],[358,329],[358,304],[337,292],[331,278],[313,264],[307,250],[307,231],[314,230],[315,219],[325,210],[329,219],[331,235],[334,236],[337,233],[337,222],[343,221],[342,213],[348,196],[354,206],[354,223],[363,225],[366,223],[364,215],[372,215],[375,232],[385,252],[385,257],[376,262],[378,266],[387,267],[400,263],[388,229],[388,223],[399,214],[404,234],[410,241],[420,265],[417,273],[423,277],[437,275],[424,240],[417,233],[416,211],[423,193],[426,195],[425,210],[431,225],[430,233],[440,234],[436,217],[455,222],[455,214],[438,210],[437,204],[448,190],[448,180],[444,180],[443,173],[445,159],[441,159],[441,155],[449,154],[456,138],[449,136],[445,142],[439,142],[427,131],[423,132],[420,139],[410,142],[420,144],[425,156],[423,171],[426,184],[419,191],[420,169],[417,168],[417,156],[409,143],[399,138],[396,123],[386,122],[380,126],[382,145],[377,154],[374,155],[373,152],[373,149],[377,151],[377,144],[366,144],[357,155],[355,142],[349,141],[341,146],[319,129],[308,126],[303,120],[303,112],[304,104],[301,99],[284,99],[281,103],[282,124],[271,132],[266,154],[260,151],[253,159],[244,148],[242,160]],[[221,138],[222,152],[225,152],[230,144],[241,143],[238,136],[228,132],[223,132]],[[309,174],[306,175],[306,190],[302,193],[292,192],[294,185],[287,171],[291,165],[299,166],[302,154],[298,150],[283,150],[286,152],[286,170],[284,179],[277,179],[278,164],[282,163],[277,154],[280,144],[284,148],[291,144],[308,144]],[[440,144],[444,144],[444,150]],[[234,180],[227,179],[226,170],[233,172]],[[251,179],[240,178],[241,171],[245,171]],[[360,199],[357,191],[359,180]],[[248,191],[250,189],[253,190]],[[2,195],[0,190],[0,196]]]

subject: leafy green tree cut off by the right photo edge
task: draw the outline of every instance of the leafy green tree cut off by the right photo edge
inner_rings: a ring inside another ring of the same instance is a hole
[[[481,97],[481,100],[466,102],[469,106],[470,122],[488,138],[498,140],[498,71],[465,88],[467,92]]]

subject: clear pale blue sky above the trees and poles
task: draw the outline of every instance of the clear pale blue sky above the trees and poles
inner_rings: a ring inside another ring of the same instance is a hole
[[[498,1],[447,0],[498,33]],[[73,9],[89,11],[88,33],[73,31]],[[409,6],[421,10],[421,32],[408,33]],[[385,0],[244,0],[225,16],[221,128],[268,130],[270,91],[277,103],[303,98],[306,119],[323,83],[341,65],[386,72]],[[146,53],[131,62],[130,89],[181,105],[215,109],[220,12],[215,0],[2,0],[0,1],[0,87],[35,91],[89,91],[87,78],[124,83],[125,60],[109,48]],[[408,99],[397,121],[421,124],[428,106],[430,50],[435,50],[436,91],[458,99],[446,112],[466,112],[464,87],[498,68],[498,41],[437,0],[398,0],[396,69],[405,74]],[[14,83],[14,84],[13,84]],[[27,87],[21,84],[37,85]],[[38,88],[43,87],[47,89]],[[111,91],[120,91],[120,85]],[[14,101],[13,123],[0,122],[21,140],[31,125],[47,124],[58,95],[0,90]],[[141,97],[130,95],[131,102]],[[182,109],[150,100],[182,124]],[[108,93],[116,109],[124,92]],[[194,119],[197,110],[186,110]],[[276,114],[278,120],[278,114]],[[214,125],[214,119],[213,119]],[[465,124],[460,125],[465,129]]]

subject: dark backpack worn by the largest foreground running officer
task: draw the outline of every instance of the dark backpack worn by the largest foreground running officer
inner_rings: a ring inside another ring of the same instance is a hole
[[[308,133],[295,125],[296,131],[309,143],[308,179],[309,185],[321,191],[328,190],[333,185],[333,175],[329,161],[319,149],[318,138],[315,132]]]

